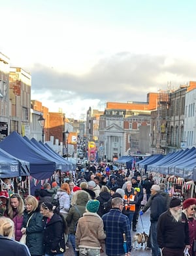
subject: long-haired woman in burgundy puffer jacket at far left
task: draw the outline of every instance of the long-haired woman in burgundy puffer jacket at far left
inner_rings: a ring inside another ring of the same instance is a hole
[[[20,194],[12,194],[8,202],[8,208],[5,216],[14,221],[14,238],[20,241],[22,237],[21,227],[23,222],[24,202]]]

